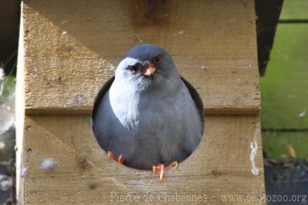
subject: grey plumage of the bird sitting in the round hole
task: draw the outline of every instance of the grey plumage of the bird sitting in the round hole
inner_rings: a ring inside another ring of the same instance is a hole
[[[155,63],[158,55],[160,63]],[[146,64],[157,68],[153,79],[142,74]],[[201,115],[171,56],[155,45],[136,46],[123,57],[97,106],[95,137],[116,158],[123,154],[124,165],[131,168],[180,162],[197,148],[203,133]]]

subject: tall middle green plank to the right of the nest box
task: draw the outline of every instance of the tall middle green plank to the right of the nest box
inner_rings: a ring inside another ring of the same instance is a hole
[[[278,25],[271,61],[261,78],[262,128],[308,128],[307,32],[308,24]]]

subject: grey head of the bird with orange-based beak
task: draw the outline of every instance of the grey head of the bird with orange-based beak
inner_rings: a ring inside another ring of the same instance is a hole
[[[167,51],[156,45],[143,44],[133,47],[123,57],[115,71],[115,80],[143,89],[159,89],[167,81],[179,82],[180,76]]]

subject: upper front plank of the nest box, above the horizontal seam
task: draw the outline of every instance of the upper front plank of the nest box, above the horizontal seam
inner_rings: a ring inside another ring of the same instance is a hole
[[[253,1],[31,0],[23,7],[26,113],[91,113],[121,56],[141,43],[170,52],[205,113],[260,111]]]

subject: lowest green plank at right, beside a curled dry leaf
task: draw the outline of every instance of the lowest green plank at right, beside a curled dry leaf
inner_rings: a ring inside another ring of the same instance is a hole
[[[277,159],[282,155],[288,156],[287,145],[291,145],[296,157],[308,157],[307,132],[262,132],[262,145],[266,158]]]

